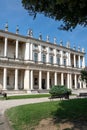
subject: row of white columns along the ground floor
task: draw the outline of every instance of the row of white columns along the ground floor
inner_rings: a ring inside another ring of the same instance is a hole
[[[46,89],[50,89],[50,79],[51,79],[51,72],[50,71],[42,71],[39,70],[38,71],[38,89],[42,89],[42,79],[43,79],[43,73],[46,73]],[[14,86],[14,90],[18,90],[18,73],[19,70],[15,69],[15,86]],[[24,89],[25,90],[33,90],[34,89],[34,70],[25,70],[24,71]],[[79,75],[78,74],[72,74],[72,73],[64,73],[64,72],[53,72],[54,74],[54,80],[53,80],[53,85],[57,85],[58,84],[58,76],[60,75],[60,85],[65,85],[64,80],[66,80],[66,86],[70,89],[78,88],[78,82],[79,82],[79,88],[82,87],[86,87],[84,82],[79,80]],[[59,74],[59,75],[58,75]],[[64,77],[64,75],[66,74],[66,78]],[[73,77],[73,78],[72,78]],[[52,80],[52,79],[51,79]],[[74,82],[74,83],[73,83]],[[7,89],[7,68],[3,69],[3,90]]]

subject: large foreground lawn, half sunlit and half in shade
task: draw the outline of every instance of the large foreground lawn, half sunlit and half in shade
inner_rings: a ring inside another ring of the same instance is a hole
[[[41,119],[53,117],[62,120],[87,122],[87,99],[51,101],[22,105],[6,111],[14,130],[33,130]]]

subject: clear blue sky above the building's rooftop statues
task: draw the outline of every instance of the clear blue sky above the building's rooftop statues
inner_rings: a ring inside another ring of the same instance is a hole
[[[36,19],[33,19],[33,16],[29,16],[28,11],[22,6],[21,0],[0,0],[0,30],[5,29],[6,22],[8,22],[9,32],[15,33],[18,25],[19,34],[26,36],[28,29],[31,28],[33,37],[37,39],[41,32],[44,41],[47,35],[51,43],[56,37],[57,44],[62,40],[63,46],[66,46],[69,41],[71,48],[75,45],[78,49],[80,46],[81,50],[85,48],[87,53],[87,27],[77,26],[72,32],[59,30],[60,21],[55,21],[42,14],[38,14]]]

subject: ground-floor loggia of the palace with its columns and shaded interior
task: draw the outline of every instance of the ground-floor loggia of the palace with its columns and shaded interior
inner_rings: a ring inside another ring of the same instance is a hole
[[[52,85],[86,88],[77,73],[0,68],[0,90],[49,90]]]

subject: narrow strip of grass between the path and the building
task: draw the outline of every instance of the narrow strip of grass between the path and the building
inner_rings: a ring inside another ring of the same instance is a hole
[[[50,94],[32,94],[32,95],[14,95],[8,96],[7,99],[27,99],[27,98],[42,98],[42,97],[49,97]]]

